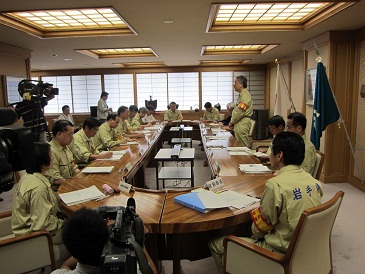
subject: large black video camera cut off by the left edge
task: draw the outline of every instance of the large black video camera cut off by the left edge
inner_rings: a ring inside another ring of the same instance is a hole
[[[12,124],[17,114],[9,108],[0,108],[0,193],[14,186],[13,171],[27,169],[34,162],[33,134],[29,128]]]

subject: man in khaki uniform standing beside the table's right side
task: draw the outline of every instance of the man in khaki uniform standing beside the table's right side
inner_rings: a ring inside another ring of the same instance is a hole
[[[234,81],[234,90],[239,93],[237,104],[233,109],[231,122],[228,127],[234,130],[234,136],[243,146],[248,147],[251,129],[252,99],[247,88],[247,78],[238,76]]]

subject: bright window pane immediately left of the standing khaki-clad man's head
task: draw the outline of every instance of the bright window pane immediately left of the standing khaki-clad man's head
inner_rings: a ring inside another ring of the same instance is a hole
[[[219,103],[222,109],[233,102],[233,75],[227,72],[202,72],[202,104]]]

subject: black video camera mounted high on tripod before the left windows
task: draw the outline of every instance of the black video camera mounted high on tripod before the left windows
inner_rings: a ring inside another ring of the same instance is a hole
[[[18,84],[18,92],[23,100],[39,102],[44,96],[58,95],[59,90],[50,83],[24,79]]]

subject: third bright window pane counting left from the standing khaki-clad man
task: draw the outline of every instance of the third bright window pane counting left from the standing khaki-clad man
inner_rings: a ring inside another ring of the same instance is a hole
[[[167,74],[143,73],[137,74],[137,104],[145,106],[145,100],[157,100],[157,110],[166,110],[167,101]]]

